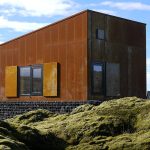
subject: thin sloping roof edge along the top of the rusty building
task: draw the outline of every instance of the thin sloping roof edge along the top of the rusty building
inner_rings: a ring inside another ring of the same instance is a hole
[[[68,16],[68,17],[66,17],[66,18],[64,18],[64,19],[58,20],[58,21],[56,21],[56,22],[54,22],[54,23],[51,23],[51,24],[49,24],[49,25],[47,25],[47,26],[44,26],[44,27],[42,27],[42,28],[39,28],[39,29],[37,29],[37,30],[31,31],[31,32],[26,33],[26,34],[23,34],[23,35],[21,35],[21,36],[19,36],[19,37],[16,37],[16,38],[13,38],[13,39],[11,39],[11,40],[8,40],[8,41],[6,41],[6,42],[0,44],[0,46],[5,45],[5,44],[7,44],[7,43],[9,43],[9,42],[15,41],[15,40],[17,40],[17,39],[20,39],[20,38],[22,38],[22,37],[24,37],[24,36],[30,35],[30,34],[32,34],[32,33],[35,33],[35,32],[37,32],[37,31],[46,29],[46,28],[48,28],[49,26],[58,24],[58,23],[60,23],[60,22],[62,22],[62,21],[68,20],[68,19],[70,19],[70,18],[73,18],[73,17],[75,17],[75,16],[77,16],[77,15],[80,15],[80,14],[82,14],[82,13],[85,13],[85,12],[99,13],[99,14],[103,14],[103,15],[106,15],[106,16],[115,17],[115,18],[118,18],[118,19],[122,19],[122,20],[130,21],[130,22],[135,22],[135,23],[138,23],[138,24],[146,25],[145,23],[142,23],[142,22],[138,22],[138,21],[134,21],[134,20],[130,20],[130,19],[126,19],[126,18],[122,18],[122,17],[118,17],[118,16],[114,16],[114,15],[109,15],[109,14],[105,14],[105,13],[101,13],[101,12],[98,12],[98,11],[93,11],[93,10],[87,9],[87,10],[83,10],[83,11],[81,11],[81,12],[78,12],[78,13],[76,13],[76,14],[73,14],[73,15],[71,15],[71,16]]]

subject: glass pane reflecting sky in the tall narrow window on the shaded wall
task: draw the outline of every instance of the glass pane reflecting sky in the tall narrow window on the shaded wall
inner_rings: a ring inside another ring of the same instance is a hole
[[[103,94],[103,71],[101,64],[93,65],[93,93]]]

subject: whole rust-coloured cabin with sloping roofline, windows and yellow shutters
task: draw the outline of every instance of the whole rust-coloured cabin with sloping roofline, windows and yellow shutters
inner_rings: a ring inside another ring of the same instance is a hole
[[[146,24],[85,10],[0,45],[0,100],[146,98]]]

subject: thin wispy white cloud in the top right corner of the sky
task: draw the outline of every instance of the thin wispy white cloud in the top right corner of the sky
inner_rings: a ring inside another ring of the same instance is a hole
[[[104,1],[101,3],[101,5],[122,9],[122,10],[150,10],[150,5],[143,4],[141,2]]]

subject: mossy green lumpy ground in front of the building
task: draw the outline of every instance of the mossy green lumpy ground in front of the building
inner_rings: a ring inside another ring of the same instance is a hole
[[[2,150],[148,150],[150,101],[128,97],[70,114],[31,111],[0,122]]]

